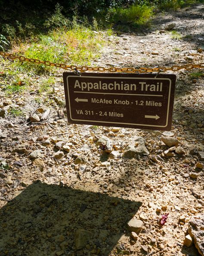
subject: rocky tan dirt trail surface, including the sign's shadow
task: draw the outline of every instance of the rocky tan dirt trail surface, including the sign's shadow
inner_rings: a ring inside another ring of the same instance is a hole
[[[203,10],[111,36],[93,64],[203,62]],[[173,23],[182,38],[172,38]],[[171,131],[68,124],[60,71],[56,107],[1,91],[0,255],[204,255],[204,79],[190,77],[201,71],[173,72]],[[6,115],[12,104],[26,116]]]

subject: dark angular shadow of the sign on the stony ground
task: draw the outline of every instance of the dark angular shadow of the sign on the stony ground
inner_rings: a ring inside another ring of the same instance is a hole
[[[0,255],[108,256],[141,204],[36,181],[0,209]]]

